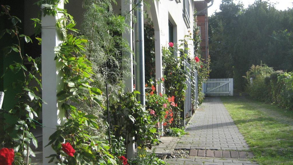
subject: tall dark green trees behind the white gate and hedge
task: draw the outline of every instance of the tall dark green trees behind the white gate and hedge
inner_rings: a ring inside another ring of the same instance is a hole
[[[242,76],[253,64],[293,69],[292,9],[278,11],[260,0],[243,9],[243,4],[223,0],[220,10],[209,18],[211,78],[233,77],[235,89],[243,91]]]

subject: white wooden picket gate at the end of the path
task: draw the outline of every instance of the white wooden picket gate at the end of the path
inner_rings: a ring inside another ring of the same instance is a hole
[[[212,78],[202,83],[205,96],[233,96],[233,78]]]

